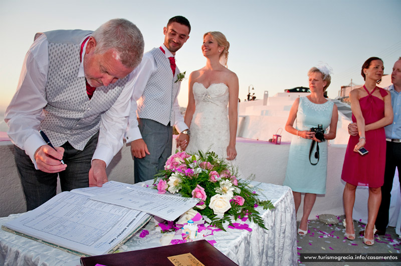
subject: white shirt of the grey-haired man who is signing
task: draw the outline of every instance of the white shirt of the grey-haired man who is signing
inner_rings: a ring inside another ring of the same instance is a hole
[[[85,36],[82,42],[88,36]],[[83,55],[85,55],[85,49],[86,44],[82,52]],[[25,56],[17,92],[5,114],[5,121],[10,127],[8,135],[12,143],[25,150],[36,169],[35,152],[46,144],[39,134],[39,129],[41,121],[45,118],[43,108],[47,105],[45,86],[48,67],[48,40],[45,35],[41,35],[35,40]],[[82,60],[78,77],[84,76]],[[133,90],[133,77],[134,75],[131,72],[115,103],[101,116],[99,141],[92,160],[100,159],[108,165],[123,145],[123,136],[130,110],[130,97]]]

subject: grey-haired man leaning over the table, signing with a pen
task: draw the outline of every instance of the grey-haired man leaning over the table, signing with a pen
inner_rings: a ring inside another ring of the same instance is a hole
[[[106,167],[122,147],[131,72],[143,47],[139,29],[124,19],[95,32],[35,36],[5,114],[28,210],[56,195],[58,175],[63,191],[107,182]]]

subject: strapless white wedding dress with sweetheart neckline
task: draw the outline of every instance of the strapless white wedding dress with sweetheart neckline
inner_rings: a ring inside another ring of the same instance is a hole
[[[214,83],[208,88],[195,82],[192,86],[195,98],[195,112],[190,124],[188,153],[213,151],[219,157],[227,158],[230,142],[228,118],[229,87]]]

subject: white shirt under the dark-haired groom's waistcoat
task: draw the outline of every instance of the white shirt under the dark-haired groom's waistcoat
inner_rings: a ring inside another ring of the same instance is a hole
[[[166,58],[174,56],[164,46],[164,44],[161,45],[161,48],[163,48],[163,50],[165,51]],[[131,98],[131,111],[128,119],[128,128],[127,131],[125,132],[125,138],[127,140],[127,143],[130,143],[138,139],[142,139],[142,135],[138,128],[138,120],[136,115],[136,109],[138,107],[138,104],[136,103],[136,101],[142,96],[150,75],[156,70],[157,70],[156,62],[154,61],[153,56],[149,52],[147,52],[143,55],[140,65],[132,72],[135,77],[133,78],[134,91],[132,93],[132,98]],[[177,129],[177,131],[181,132],[182,130],[188,129],[188,126],[184,123],[184,117],[179,111],[178,99],[176,97],[173,104],[173,111],[175,113],[174,126]]]

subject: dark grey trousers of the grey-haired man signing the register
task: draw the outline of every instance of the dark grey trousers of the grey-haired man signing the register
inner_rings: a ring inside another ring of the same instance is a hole
[[[28,211],[39,207],[56,196],[58,175],[60,176],[62,191],[89,186],[89,170],[98,138],[99,133],[89,140],[83,151],[74,149],[68,142],[63,144],[61,146],[64,148],[63,161],[67,164],[67,168],[60,173],[45,173],[36,170],[31,158],[25,151],[14,146],[15,160],[27,200]]]

